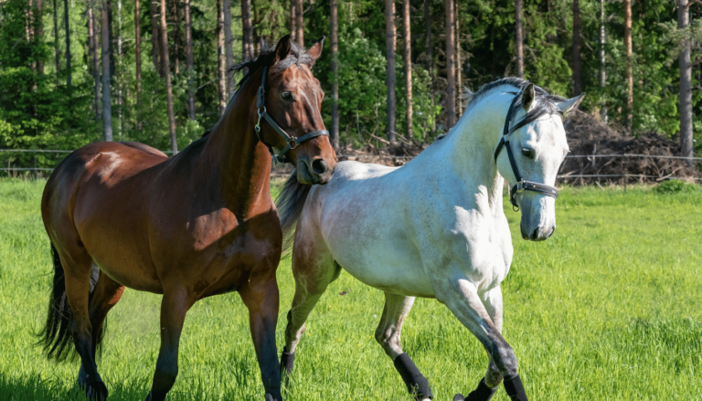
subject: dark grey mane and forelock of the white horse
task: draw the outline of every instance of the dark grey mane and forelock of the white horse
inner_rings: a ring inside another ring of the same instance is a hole
[[[520,79],[516,77],[507,77],[503,79],[497,79],[493,82],[486,83],[483,85],[483,87],[478,90],[477,92],[472,92],[471,90],[466,89],[464,94],[463,94],[463,99],[468,100],[468,106],[466,106],[465,111],[468,111],[473,105],[475,105],[478,100],[480,100],[484,94],[490,92],[491,90],[494,90],[495,88],[503,85],[509,85],[515,88],[514,93],[515,95],[519,95],[519,99],[516,100],[515,106],[514,106],[514,111],[519,110],[522,108],[522,94],[520,93],[520,90],[523,90],[527,88],[529,85],[529,81],[525,79]],[[534,100],[535,105],[532,107],[531,111],[527,112],[527,115],[525,115],[522,120],[517,122],[510,132],[516,131],[523,126],[527,125],[528,123],[537,120],[541,116],[545,114],[562,114],[560,109],[558,109],[558,102],[561,102],[563,100],[566,100],[565,98],[562,98],[558,95],[552,95],[548,93],[548,91],[537,87],[534,85],[534,92],[536,93],[537,97]],[[513,113],[515,115],[516,113]]]

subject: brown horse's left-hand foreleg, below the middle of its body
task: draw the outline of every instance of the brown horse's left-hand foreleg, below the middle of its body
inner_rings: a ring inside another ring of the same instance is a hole
[[[164,401],[178,375],[178,344],[186,321],[186,312],[192,306],[187,290],[164,289],[161,301],[161,349],[156,360],[154,384],[146,401]]]

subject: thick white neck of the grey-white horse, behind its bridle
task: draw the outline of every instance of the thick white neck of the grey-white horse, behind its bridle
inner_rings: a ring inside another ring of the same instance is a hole
[[[502,190],[504,178],[497,171],[495,148],[502,136],[505,117],[514,95],[512,86],[497,87],[484,94],[463,114],[461,120],[446,136],[441,160],[448,163],[454,174],[460,177],[465,190],[487,195],[493,212],[502,213]]]

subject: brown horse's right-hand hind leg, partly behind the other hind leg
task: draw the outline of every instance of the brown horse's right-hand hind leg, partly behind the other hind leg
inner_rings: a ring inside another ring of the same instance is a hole
[[[110,279],[93,264],[90,272],[90,287],[91,352],[92,357],[97,359],[98,347],[101,345],[104,335],[103,324],[105,317],[122,298],[124,286]],[[80,364],[78,383],[83,387],[87,386],[86,371],[83,364]]]

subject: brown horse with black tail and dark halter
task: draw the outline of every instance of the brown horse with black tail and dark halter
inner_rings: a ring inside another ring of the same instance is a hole
[[[96,347],[107,312],[129,287],[164,294],[147,400],[164,400],[176,382],[186,311],[229,291],[239,291],[249,309],[266,400],[282,400],[275,346],[282,232],[271,153],[289,151],[281,159],[295,164],[303,184],[326,184],[334,173],[320,114],[324,92],[311,71],[323,42],[305,52],[283,37],[240,63],[236,69],[249,72],[221,120],[174,157],[141,143],[93,143],[49,177],[41,212],[55,276],[41,343],[49,359],[62,360],[72,354],[72,338],[79,384],[90,398],[107,397]]]

